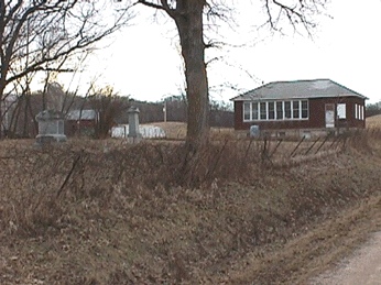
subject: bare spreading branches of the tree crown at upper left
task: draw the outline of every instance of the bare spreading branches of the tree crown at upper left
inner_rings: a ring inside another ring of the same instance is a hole
[[[121,6],[104,0],[0,0],[0,110],[12,83],[40,70],[69,72],[72,55],[126,25],[132,14]]]

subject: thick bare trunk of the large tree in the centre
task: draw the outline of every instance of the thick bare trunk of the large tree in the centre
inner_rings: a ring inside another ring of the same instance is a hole
[[[205,0],[178,1],[179,13],[174,17],[185,63],[187,142],[195,147],[205,144],[209,134],[209,94],[203,34],[204,6]]]

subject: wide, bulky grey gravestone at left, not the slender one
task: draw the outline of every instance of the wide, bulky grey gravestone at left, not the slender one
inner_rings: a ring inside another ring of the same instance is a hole
[[[44,110],[35,119],[39,122],[36,145],[66,142],[64,116],[54,110]]]

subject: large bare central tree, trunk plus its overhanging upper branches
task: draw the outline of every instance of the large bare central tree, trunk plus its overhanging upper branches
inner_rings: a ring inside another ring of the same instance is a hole
[[[213,46],[205,43],[204,20],[228,20],[227,12],[233,9],[233,1],[218,0],[138,0],[143,4],[163,11],[174,20],[185,64],[186,97],[188,101],[187,141],[189,145],[204,144],[209,132],[209,95],[205,50]],[[318,13],[327,0],[262,0],[268,14],[265,24],[280,30],[284,20],[294,29],[300,25],[307,32],[314,26],[312,17]]]

